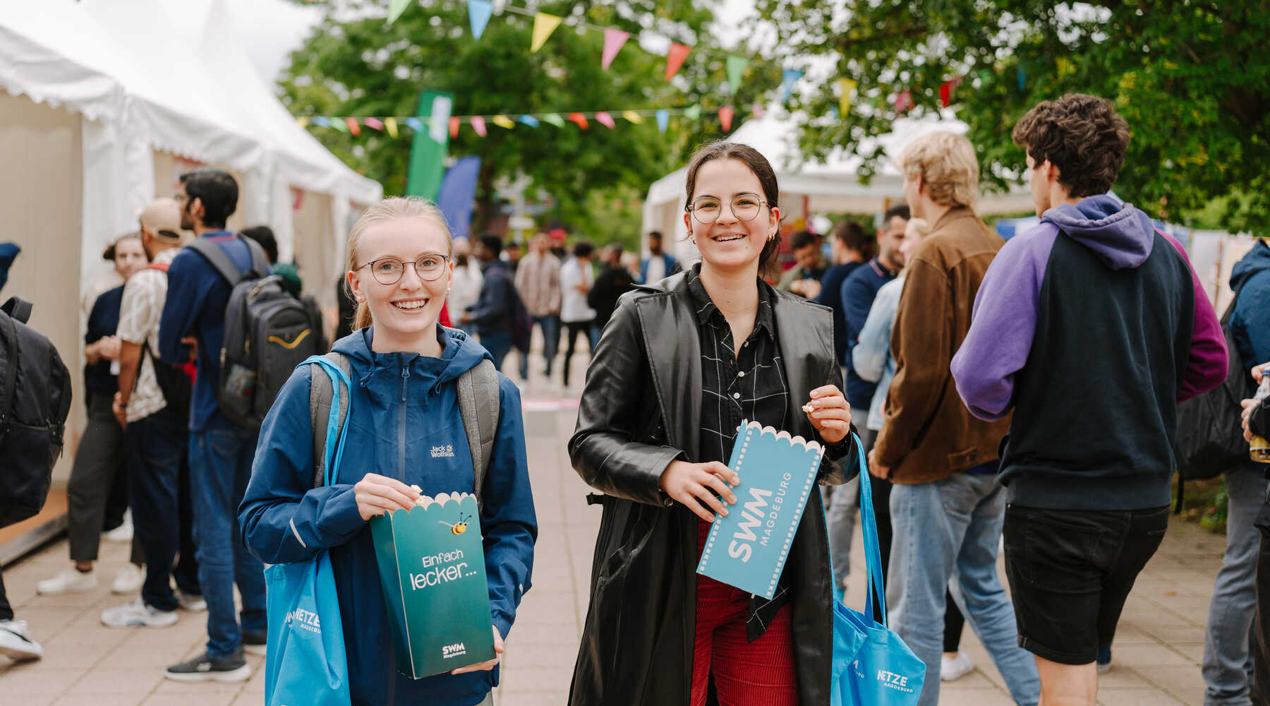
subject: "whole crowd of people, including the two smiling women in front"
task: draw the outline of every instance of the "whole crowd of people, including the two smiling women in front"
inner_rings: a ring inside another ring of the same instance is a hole
[[[875,234],[838,222],[826,259],[819,235],[795,232],[784,273],[776,174],[740,143],[707,145],[688,165],[683,222],[701,255],[688,267],[658,232],[641,262],[618,245],[597,256],[585,240],[566,250],[549,232],[522,254],[497,235],[455,240],[429,202],[385,199],[352,229],[338,284],[329,356],[348,376],[349,453],[330,483],[315,483],[328,460],[312,443],[324,373],[297,367],[258,429],[221,406],[237,281],[213,260],[302,290],[267,229],[226,230],[239,198],[229,174],[184,174],[105,253],[124,284],[88,317],[71,565],[38,590],[98,585],[100,532],[126,498],[132,563],[112,588],[138,596],[100,621],[160,627],[206,611],[203,654],[169,678],[246,679],[244,650],[267,643],[264,564],[329,550],[354,703],[489,703],[497,658],[418,681],[398,672],[367,522],[420,495],[476,494],[503,651],[537,537],[521,389],[497,373],[498,428],[474,475],[457,381],[486,362],[502,370],[513,348],[528,380],[537,328],[561,389],[579,338],[591,353],[568,452],[603,514],[570,703],[827,703],[864,462],[885,583],[867,599],[885,599],[926,665],[917,702],[933,706],[941,681],[973,669],[959,646],[969,623],[1017,703],[1092,705],[1167,527],[1177,405],[1227,380],[1223,326],[1238,359],[1270,361],[1270,248],[1257,241],[1236,265],[1219,321],[1182,245],[1109,194],[1129,143],[1110,102],[1043,102],[1013,141],[1038,226],[1002,240],[974,210],[973,145],[932,132],[898,157],[904,203]],[[1267,370],[1231,375],[1251,386]],[[1245,434],[1264,436],[1266,416],[1245,403]],[[742,420],[826,447],[822,493],[772,599],[693,571],[710,523],[737,503],[725,462]],[[1255,620],[1270,606],[1266,483],[1251,461],[1227,472],[1206,703],[1266,702],[1270,630]],[[41,654],[3,584],[0,648]]]

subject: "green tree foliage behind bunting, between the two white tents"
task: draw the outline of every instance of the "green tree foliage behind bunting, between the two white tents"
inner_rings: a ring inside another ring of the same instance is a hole
[[[652,116],[640,124],[621,118],[621,109],[737,107],[733,127],[745,117],[743,105],[780,81],[775,63],[756,61],[737,97],[723,90],[726,51],[709,32],[711,5],[674,0],[545,1],[537,10],[616,27],[631,33],[608,71],[599,66],[603,37],[561,24],[536,53],[530,53],[533,19],[521,14],[495,14],[480,39],[469,28],[467,5],[455,0],[411,3],[391,25],[386,0],[340,0],[326,19],[292,53],[282,76],[283,103],[296,116],[411,116],[422,89],[455,95],[453,112],[467,114],[615,110],[616,130],[589,121],[585,131],[573,123],[558,128],[517,124],[505,130],[488,124],[488,137],[464,123],[451,140],[453,156],[478,155],[481,171],[474,230],[494,215],[494,184],[500,176],[525,174],[530,193],[550,194],[554,215],[587,231],[615,231],[613,216],[603,208],[611,199],[596,193],[627,194],[678,168],[697,143],[723,137],[719,122],[705,113],[688,124],[672,118],[667,133],[658,132]],[[638,33],[645,27],[693,51],[667,83],[665,58],[645,52]],[[488,119],[486,119],[488,122]],[[323,143],[367,176],[378,179],[387,194],[401,193],[409,163],[410,131],[403,137],[363,128],[359,137],[335,130],[314,128]],[[603,223],[603,229],[599,229]],[[622,237],[638,234],[639,221],[616,229]]]

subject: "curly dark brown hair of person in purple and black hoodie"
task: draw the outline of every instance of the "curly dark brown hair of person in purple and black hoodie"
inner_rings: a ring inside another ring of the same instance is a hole
[[[1106,193],[1124,166],[1129,123],[1105,98],[1069,93],[1027,110],[1011,135],[1040,164],[1058,168],[1058,183],[1073,197]]]

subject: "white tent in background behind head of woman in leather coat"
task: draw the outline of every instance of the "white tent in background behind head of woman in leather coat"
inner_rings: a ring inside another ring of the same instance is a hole
[[[869,184],[860,182],[862,160],[836,150],[823,161],[801,161],[794,143],[794,121],[787,113],[771,110],[762,118],[747,121],[729,138],[758,150],[776,169],[781,185],[785,222],[806,220],[813,213],[880,213],[904,199],[903,178],[893,160],[913,138],[935,130],[965,132],[966,126],[955,119],[900,119],[895,131],[871,140],[864,151],[881,146],[890,157],[880,166]],[[667,245],[677,255],[692,258],[695,253],[683,226],[683,193],[687,168],[681,168],[653,183],[644,201],[643,232],[662,231]],[[1026,190],[1006,194],[984,194],[975,207],[980,215],[1017,213],[1033,208]]]

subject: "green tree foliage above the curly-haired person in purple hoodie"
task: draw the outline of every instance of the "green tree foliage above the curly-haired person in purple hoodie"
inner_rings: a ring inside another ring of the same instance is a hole
[[[804,154],[824,155],[885,133],[908,89],[911,117],[954,90],[984,179],[1017,179],[1024,152],[1010,133],[1036,103],[1064,93],[1115,102],[1133,138],[1115,189],[1157,217],[1189,220],[1218,202],[1229,230],[1266,234],[1270,222],[1270,3],[1137,0],[759,0],[787,65],[828,57],[859,81],[845,119],[836,81],[790,105],[810,116]],[[832,5],[839,5],[834,9]],[[866,169],[883,159],[862,154]],[[866,173],[867,175],[867,173]]]

